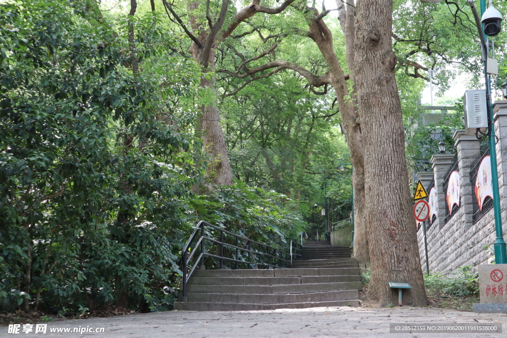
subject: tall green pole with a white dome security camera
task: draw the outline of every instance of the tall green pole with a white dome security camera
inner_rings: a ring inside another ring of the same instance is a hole
[[[481,7],[481,19],[479,19],[479,15],[477,13],[477,9],[474,5],[474,0],[468,0],[468,5],[472,12],[474,13],[474,19],[476,21],[477,29],[479,31],[479,36],[481,38],[481,48],[483,50],[484,55],[484,77],[486,84],[486,105],[487,105],[487,113],[488,113],[488,143],[489,143],[489,154],[491,161],[491,183],[493,188],[493,210],[495,214],[495,232],[496,232],[496,240],[494,243],[495,249],[495,263],[496,264],[506,264],[507,263],[507,250],[506,244],[503,240],[503,232],[502,232],[502,220],[501,220],[501,212],[500,212],[500,193],[498,190],[498,169],[496,164],[496,147],[495,147],[495,127],[493,120],[493,107],[491,104],[491,83],[489,79],[489,73],[487,72],[487,59],[489,57],[489,44],[488,38],[484,34],[483,26],[486,27],[486,34],[490,36],[494,36],[498,34],[500,30],[500,21],[501,18],[496,21],[492,21],[491,18],[488,18],[488,15],[484,15],[487,11],[490,16],[491,14],[497,15],[500,14],[494,7],[492,0],[489,1],[489,7],[486,10],[486,0],[480,0]],[[497,13],[497,14],[496,14]],[[501,17],[501,15],[500,15]],[[503,91],[503,88],[502,88]]]

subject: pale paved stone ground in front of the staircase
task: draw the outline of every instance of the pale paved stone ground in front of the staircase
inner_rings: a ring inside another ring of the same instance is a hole
[[[488,323],[503,325],[503,333],[389,333],[389,323]],[[50,333],[51,327],[104,327],[104,333]],[[428,308],[361,309],[348,307],[231,312],[168,311],[109,318],[48,323],[46,334],[0,337],[507,337],[507,314],[477,314]]]

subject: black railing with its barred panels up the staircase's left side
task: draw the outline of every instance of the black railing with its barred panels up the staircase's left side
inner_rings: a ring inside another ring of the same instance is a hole
[[[292,260],[302,259],[300,244],[291,242],[289,251],[252,241],[201,220],[182,251],[183,296],[187,295],[187,283],[192,273],[199,264],[201,269],[204,268],[205,257],[212,259],[207,262],[208,268],[220,266],[224,269],[224,265],[229,266],[230,263],[230,269],[287,268]],[[197,258],[193,259],[196,254]]]

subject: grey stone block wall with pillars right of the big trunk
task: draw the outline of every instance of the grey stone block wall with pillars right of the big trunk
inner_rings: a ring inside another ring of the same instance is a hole
[[[507,101],[496,101],[494,112],[495,134],[498,138],[496,154],[501,218],[503,236],[507,238],[507,213],[504,200],[504,196],[507,196]],[[465,135],[464,130],[456,131],[454,140],[456,141],[456,155],[460,173],[460,208],[447,223],[445,223],[447,205],[443,185],[455,155],[434,155],[431,158],[433,175],[429,172],[418,173],[418,177],[423,181],[425,187],[431,179],[434,179],[438,196],[437,219],[433,224],[426,222],[429,270],[446,274],[459,267],[476,267],[491,262],[494,259],[493,243],[496,238],[493,208],[476,223],[472,221],[472,199],[475,196],[469,180],[469,172],[470,163],[479,152],[480,141],[475,136]],[[417,238],[421,268],[426,271],[422,227],[417,232]]]

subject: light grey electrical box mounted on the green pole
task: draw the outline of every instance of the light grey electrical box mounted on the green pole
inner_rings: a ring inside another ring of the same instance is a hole
[[[475,135],[477,128],[488,128],[486,89],[465,90],[463,108],[466,135]]]

